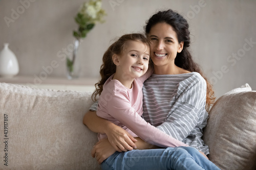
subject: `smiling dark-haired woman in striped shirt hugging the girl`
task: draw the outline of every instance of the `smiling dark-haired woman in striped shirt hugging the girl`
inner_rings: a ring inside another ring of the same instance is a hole
[[[208,117],[206,110],[214,101],[214,92],[188,51],[187,21],[172,10],[160,11],[147,21],[145,33],[151,40],[154,74],[144,82],[143,117],[158,129],[207,155],[208,147],[201,136]],[[91,107],[91,110],[96,109]],[[88,112],[83,122],[92,131],[108,136],[110,142],[99,141],[92,150],[92,156],[96,156],[99,162],[112,155],[114,149],[126,151],[135,147],[153,147],[139,138],[136,141],[122,129],[97,117],[95,112]],[[105,145],[110,146],[110,143],[113,148],[106,148]]]

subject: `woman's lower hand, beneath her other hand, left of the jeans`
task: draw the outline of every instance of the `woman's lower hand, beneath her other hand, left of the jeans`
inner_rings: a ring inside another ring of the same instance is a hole
[[[116,152],[108,139],[99,140],[92,149],[92,157],[96,157],[99,164]]]

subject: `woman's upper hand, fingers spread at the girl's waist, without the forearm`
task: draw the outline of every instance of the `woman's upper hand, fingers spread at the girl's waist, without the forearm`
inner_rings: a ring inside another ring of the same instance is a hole
[[[118,152],[131,151],[137,148],[136,144],[134,143],[137,140],[119,126],[110,124],[106,130],[106,135],[108,136],[113,148]]]

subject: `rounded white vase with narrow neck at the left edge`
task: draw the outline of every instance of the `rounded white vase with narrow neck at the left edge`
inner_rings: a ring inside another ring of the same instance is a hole
[[[18,60],[15,54],[9,49],[8,43],[4,44],[0,52],[0,77],[12,78],[18,74]]]

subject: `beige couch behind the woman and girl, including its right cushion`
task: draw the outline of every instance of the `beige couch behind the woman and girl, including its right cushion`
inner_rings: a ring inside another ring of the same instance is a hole
[[[0,83],[0,169],[100,169],[97,135],[82,124],[91,94]],[[255,169],[255,105],[246,84],[212,106],[203,138],[221,169]]]

